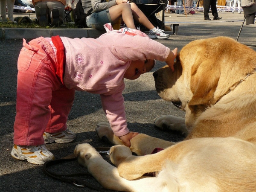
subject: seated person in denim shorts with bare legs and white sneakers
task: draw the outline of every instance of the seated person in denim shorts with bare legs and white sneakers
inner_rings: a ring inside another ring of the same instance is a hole
[[[136,29],[134,20],[144,25],[149,29],[148,36],[150,38],[169,38],[169,34],[165,34],[158,27],[154,27],[135,3],[129,3],[127,0],[111,0],[108,2],[82,0],[82,6],[84,13],[93,8],[92,14],[87,16],[85,21],[90,28],[104,30],[104,24],[111,23],[113,25],[119,18],[122,18],[125,25],[131,29]]]

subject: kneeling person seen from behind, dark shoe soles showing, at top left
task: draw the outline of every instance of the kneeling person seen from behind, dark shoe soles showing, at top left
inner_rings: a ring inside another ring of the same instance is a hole
[[[32,0],[41,26],[59,26],[65,18],[66,0]]]

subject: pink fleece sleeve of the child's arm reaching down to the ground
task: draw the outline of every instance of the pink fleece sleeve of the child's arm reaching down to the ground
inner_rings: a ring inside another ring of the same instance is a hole
[[[125,84],[123,83],[116,93],[111,95],[100,95],[102,108],[108,118],[111,129],[117,137],[129,133],[125,116],[124,98],[122,96],[122,90],[124,90],[124,88]]]

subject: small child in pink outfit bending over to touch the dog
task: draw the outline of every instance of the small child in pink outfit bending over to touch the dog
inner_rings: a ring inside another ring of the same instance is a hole
[[[154,67],[154,59],[166,61],[173,70],[177,49],[170,51],[135,29],[107,31],[96,39],[41,37],[28,44],[23,40],[18,58],[13,157],[43,164],[54,158],[44,143],[75,139],[66,125],[75,90],[100,94],[114,134],[130,145],[137,133],[127,128],[124,78],[137,79]]]

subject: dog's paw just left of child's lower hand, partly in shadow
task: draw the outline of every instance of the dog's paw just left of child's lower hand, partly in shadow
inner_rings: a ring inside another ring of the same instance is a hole
[[[109,123],[99,122],[95,131],[100,140],[110,142],[113,145],[123,145],[122,140],[114,135]]]

